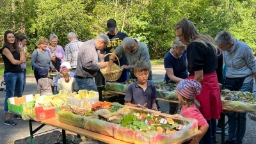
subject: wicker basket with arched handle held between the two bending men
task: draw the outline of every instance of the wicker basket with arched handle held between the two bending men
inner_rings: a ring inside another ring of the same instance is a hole
[[[112,54],[112,53],[109,53],[109,54]],[[106,54],[104,57],[108,56],[109,54]],[[118,60],[118,67],[120,67],[120,61],[117,56],[116,56],[116,59]],[[113,65],[116,65],[116,64],[113,63]],[[102,73],[102,75],[104,76],[106,81],[116,81],[117,79],[120,78],[123,70],[124,70],[124,68],[120,68],[120,70],[113,70],[110,72],[103,72],[103,70],[100,70],[100,72]]]

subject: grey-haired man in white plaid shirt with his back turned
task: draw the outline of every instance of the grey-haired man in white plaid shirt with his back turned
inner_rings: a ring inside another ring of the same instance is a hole
[[[67,38],[69,43],[65,46],[65,61],[71,64],[71,71],[75,72],[79,47],[83,45],[83,42],[77,40],[76,33],[73,32],[68,33]]]

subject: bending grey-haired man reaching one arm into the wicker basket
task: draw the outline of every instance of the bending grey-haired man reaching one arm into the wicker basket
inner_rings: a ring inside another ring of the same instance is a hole
[[[129,37],[124,38],[123,43],[116,47],[116,49],[112,52],[112,55],[109,58],[109,65],[106,72],[111,71],[113,60],[115,60],[114,54],[117,54],[118,56],[125,54],[128,65],[122,65],[121,67],[130,71],[131,79],[136,79],[133,72],[133,67],[135,63],[140,60],[147,62],[150,68],[148,80],[152,80],[152,68],[149,60],[150,56],[147,45]]]

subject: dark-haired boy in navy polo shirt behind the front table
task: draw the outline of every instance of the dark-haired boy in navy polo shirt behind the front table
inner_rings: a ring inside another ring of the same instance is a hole
[[[137,81],[132,83],[125,94],[125,104],[157,111],[156,87],[148,82],[149,67],[145,61],[137,61],[134,65],[134,76]]]

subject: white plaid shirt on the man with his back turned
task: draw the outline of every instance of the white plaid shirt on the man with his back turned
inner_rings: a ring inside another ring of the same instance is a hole
[[[81,45],[83,45],[83,42],[75,39],[65,46],[65,61],[71,61],[70,65],[72,68],[76,68],[78,51]]]

